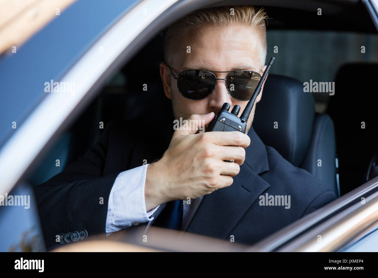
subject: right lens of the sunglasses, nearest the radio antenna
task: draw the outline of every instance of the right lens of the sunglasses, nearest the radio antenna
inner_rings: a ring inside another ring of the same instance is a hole
[[[241,70],[230,73],[226,79],[228,92],[237,100],[249,100],[260,79],[261,75],[254,71]]]

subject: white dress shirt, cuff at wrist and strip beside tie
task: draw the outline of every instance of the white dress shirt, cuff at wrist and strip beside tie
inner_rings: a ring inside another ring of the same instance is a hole
[[[119,173],[110,191],[108,213],[106,217],[106,235],[132,225],[139,225],[149,221],[146,230],[165,208],[166,203],[147,211],[144,199],[144,186],[149,164],[139,166]],[[191,222],[203,196],[190,200],[183,200],[183,224],[181,230],[185,231]]]

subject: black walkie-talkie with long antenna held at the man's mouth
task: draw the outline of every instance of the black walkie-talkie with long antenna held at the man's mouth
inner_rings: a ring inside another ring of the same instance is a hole
[[[206,129],[206,132],[208,131],[240,131],[243,133],[246,133],[246,127],[247,127],[247,121],[249,118],[249,114],[251,114],[253,105],[255,103],[255,100],[257,96],[259,95],[261,91],[262,84],[264,83],[264,80],[266,78],[266,75],[268,75],[269,69],[272,66],[274,60],[276,58],[270,57],[270,60],[268,62],[268,65],[266,65],[266,69],[260,79],[259,84],[257,84],[256,90],[253,93],[251,99],[249,99],[249,102],[247,106],[245,107],[242,115],[240,118],[237,116],[240,112],[240,106],[235,105],[234,108],[232,108],[231,113],[228,112],[230,109],[229,103],[224,103],[222,106],[222,109],[219,110],[217,115],[214,116],[212,121],[209,123],[208,128]]]

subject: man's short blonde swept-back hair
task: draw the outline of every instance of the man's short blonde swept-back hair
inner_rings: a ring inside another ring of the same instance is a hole
[[[234,9],[234,10],[231,10]],[[233,11],[233,15],[231,15]],[[177,48],[180,39],[191,30],[195,30],[205,24],[214,24],[216,27],[230,23],[244,23],[259,34],[260,65],[265,64],[266,59],[266,28],[265,20],[268,16],[263,8],[255,9],[254,6],[222,6],[194,11],[170,25],[164,36],[164,59],[168,65],[172,65],[172,51]]]

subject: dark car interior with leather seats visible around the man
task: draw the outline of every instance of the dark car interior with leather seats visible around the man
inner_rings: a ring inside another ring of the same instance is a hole
[[[266,145],[340,197],[378,175],[378,123],[372,120],[373,74],[378,72],[375,26],[362,3],[324,16],[264,8],[270,17],[267,61],[274,56],[276,62],[256,106],[253,127]],[[32,185],[45,182],[84,155],[104,130],[99,129],[100,122],[106,126],[119,118],[148,120],[152,115],[170,120],[171,104],[159,74],[164,31],[113,75],[60,136],[30,177]],[[351,43],[355,48],[346,47]],[[138,71],[144,74],[135,74]],[[336,93],[305,93],[303,83],[310,79],[335,82]],[[148,90],[143,91],[146,83]],[[60,167],[55,167],[57,157]]]

